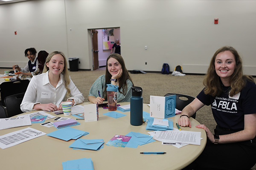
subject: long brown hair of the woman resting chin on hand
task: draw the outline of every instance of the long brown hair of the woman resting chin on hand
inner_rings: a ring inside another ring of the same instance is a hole
[[[126,95],[126,93],[127,93],[127,91],[128,91],[126,80],[127,80],[127,79],[131,80],[131,77],[130,77],[130,75],[129,75],[129,73],[128,73],[126,67],[125,67],[125,61],[124,61],[124,59],[122,58],[122,56],[121,56],[120,54],[116,54],[116,53],[110,54],[110,55],[108,56],[108,58],[107,58],[107,62],[106,62],[106,73],[105,73],[105,78],[106,78],[105,85],[106,85],[106,84],[111,84],[110,79],[111,79],[112,76],[111,76],[111,74],[108,72],[108,60],[109,60],[110,58],[116,59],[116,60],[120,63],[120,65],[122,66],[122,76],[119,78],[119,87],[118,87],[118,91],[119,91],[120,93]],[[132,80],[131,80],[131,82],[132,82]],[[132,82],[132,84],[134,85],[133,82]],[[122,91],[120,91],[121,88],[122,88]],[[105,99],[107,99],[106,88],[105,88],[105,90],[104,90],[104,92],[103,92],[103,96],[104,96]]]

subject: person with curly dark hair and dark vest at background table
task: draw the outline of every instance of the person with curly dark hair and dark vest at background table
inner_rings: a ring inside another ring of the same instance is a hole
[[[18,65],[13,65],[13,70],[17,68],[18,72],[21,72],[20,74],[24,75],[25,77],[37,75],[35,71],[38,69],[38,62],[35,48],[27,48],[25,50],[25,57],[29,58],[29,62],[26,64],[26,66],[20,68]]]

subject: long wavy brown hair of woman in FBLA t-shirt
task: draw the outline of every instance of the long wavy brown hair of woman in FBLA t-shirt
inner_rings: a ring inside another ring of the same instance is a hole
[[[236,49],[230,46],[224,46],[219,48],[212,56],[206,77],[204,78],[205,94],[209,94],[211,96],[219,96],[222,92],[224,92],[222,89],[221,79],[215,71],[216,56],[224,51],[230,51],[234,55],[236,61],[234,73],[230,77],[230,96],[238,94],[246,85],[247,80],[254,82],[252,76],[243,74],[242,59]]]

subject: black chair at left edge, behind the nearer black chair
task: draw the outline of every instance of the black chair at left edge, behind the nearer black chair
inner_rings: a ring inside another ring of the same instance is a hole
[[[28,88],[29,80],[16,80],[16,81],[7,81],[2,82],[0,85],[0,93],[1,93],[1,103],[0,105],[6,106],[4,103],[4,99],[7,96],[11,96],[13,94],[25,93]]]

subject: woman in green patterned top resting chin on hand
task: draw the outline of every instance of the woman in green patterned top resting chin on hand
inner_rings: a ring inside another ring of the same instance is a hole
[[[118,85],[117,102],[130,102],[133,82],[125,68],[124,59],[120,54],[110,54],[106,62],[106,74],[100,76],[90,88],[88,100],[101,104],[108,99],[107,84]],[[100,97],[99,93],[100,93]]]

